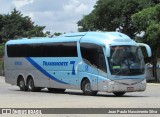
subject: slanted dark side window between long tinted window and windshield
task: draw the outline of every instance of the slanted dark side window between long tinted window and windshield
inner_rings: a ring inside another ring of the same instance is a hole
[[[88,65],[96,66],[98,69],[107,72],[105,56],[101,46],[81,43],[80,49],[82,58]]]

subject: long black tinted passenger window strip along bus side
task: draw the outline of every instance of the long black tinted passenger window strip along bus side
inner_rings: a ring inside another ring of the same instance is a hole
[[[8,57],[77,57],[76,42],[7,45]]]

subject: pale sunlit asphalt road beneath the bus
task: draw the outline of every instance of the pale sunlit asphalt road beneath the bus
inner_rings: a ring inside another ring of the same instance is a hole
[[[49,93],[47,89],[41,92],[23,92],[19,87],[5,83],[4,77],[0,76],[0,108],[160,108],[160,84],[147,84],[146,91],[126,93],[123,97],[105,92],[99,92],[97,96],[84,96],[79,90],[66,90],[63,94]]]

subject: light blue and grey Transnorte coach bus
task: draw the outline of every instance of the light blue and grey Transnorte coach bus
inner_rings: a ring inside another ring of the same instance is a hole
[[[22,91],[82,90],[122,96],[146,89],[141,47],[119,32],[79,32],[58,37],[10,40],[5,44],[5,82]]]

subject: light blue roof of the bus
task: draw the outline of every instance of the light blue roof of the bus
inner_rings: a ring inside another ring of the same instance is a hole
[[[130,37],[119,32],[78,32],[68,33],[57,37],[34,37],[31,39],[22,38],[10,40],[6,44],[28,44],[28,43],[54,43],[54,42],[86,42],[96,44],[112,44],[114,43],[133,43]],[[135,43],[135,42],[134,42]]]

